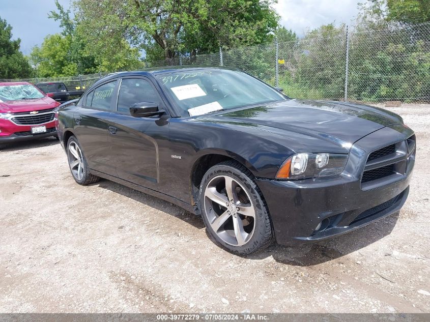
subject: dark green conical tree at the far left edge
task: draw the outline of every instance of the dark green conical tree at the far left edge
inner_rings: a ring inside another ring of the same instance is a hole
[[[28,61],[19,51],[21,40],[12,40],[12,27],[0,17],[0,78],[25,78],[32,73]]]

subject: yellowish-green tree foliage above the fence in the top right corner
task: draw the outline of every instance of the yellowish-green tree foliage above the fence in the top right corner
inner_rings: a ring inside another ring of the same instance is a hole
[[[388,19],[405,23],[430,21],[428,0],[387,0]]]

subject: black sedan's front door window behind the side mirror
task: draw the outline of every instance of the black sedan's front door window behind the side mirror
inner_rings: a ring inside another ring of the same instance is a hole
[[[128,113],[133,104],[140,102],[159,104],[160,98],[148,80],[141,78],[123,79],[118,95],[118,111]]]

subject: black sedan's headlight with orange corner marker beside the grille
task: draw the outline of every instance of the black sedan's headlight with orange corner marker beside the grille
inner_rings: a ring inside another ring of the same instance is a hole
[[[276,179],[329,177],[342,173],[347,160],[346,154],[298,153],[285,160],[276,173]]]

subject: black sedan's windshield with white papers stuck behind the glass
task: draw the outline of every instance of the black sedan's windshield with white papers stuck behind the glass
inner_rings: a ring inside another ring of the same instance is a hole
[[[158,75],[161,84],[182,115],[268,104],[287,98],[245,73],[226,69],[202,69]]]

